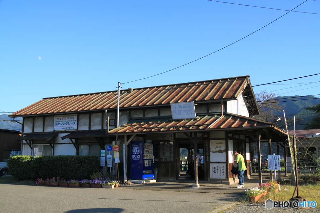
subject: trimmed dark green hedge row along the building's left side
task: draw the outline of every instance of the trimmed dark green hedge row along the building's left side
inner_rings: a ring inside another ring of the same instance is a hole
[[[97,156],[12,156],[7,160],[8,171],[16,179],[60,177],[90,179],[100,169]]]

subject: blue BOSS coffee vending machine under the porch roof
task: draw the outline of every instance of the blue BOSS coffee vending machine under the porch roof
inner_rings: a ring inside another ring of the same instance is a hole
[[[130,149],[130,179],[154,179],[154,164],[152,142],[132,141]]]

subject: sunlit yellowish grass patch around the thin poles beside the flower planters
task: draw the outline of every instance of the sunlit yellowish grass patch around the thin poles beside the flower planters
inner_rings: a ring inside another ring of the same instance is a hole
[[[281,191],[278,193],[271,192],[266,196],[260,198],[259,202],[264,203],[266,200],[271,199],[273,201],[289,201],[292,197],[293,190],[295,186],[291,185],[284,185],[280,186]],[[295,193],[294,197],[297,196],[297,192]],[[318,209],[320,209],[320,184],[315,185],[305,185],[299,186],[299,196],[307,199],[307,201],[316,201]],[[249,197],[244,199],[244,202],[250,202]]]

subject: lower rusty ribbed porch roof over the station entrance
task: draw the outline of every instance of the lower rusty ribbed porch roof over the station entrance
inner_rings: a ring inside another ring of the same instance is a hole
[[[171,117],[135,118],[130,122],[119,126],[108,134],[144,134],[144,133],[168,133],[168,132],[192,132],[210,130],[228,130],[232,128],[250,129],[273,126],[273,123],[247,118],[231,113],[198,115],[195,119],[172,120]]]

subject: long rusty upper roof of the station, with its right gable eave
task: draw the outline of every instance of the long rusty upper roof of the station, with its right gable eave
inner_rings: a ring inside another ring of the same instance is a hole
[[[249,113],[259,114],[249,76],[144,87],[133,89],[132,92],[128,89],[121,90],[120,108],[169,105],[189,101],[210,103],[220,100],[236,100],[241,93],[246,96]],[[116,109],[116,107],[117,91],[110,91],[44,98],[12,113],[10,117],[108,110]]]

